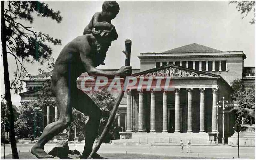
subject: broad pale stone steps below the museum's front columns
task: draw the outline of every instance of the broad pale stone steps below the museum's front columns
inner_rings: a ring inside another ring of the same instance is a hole
[[[123,132],[124,133],[124,132]],[[121,137],[122,138],[122,137]],[[175,145],[180,140],[186,145],[188,140],[192,144],[210,144],[208,133],[145,133],[133,132],[129,139],[112,140],[112,145]],[[214,143],[212,141],[212,143]]]

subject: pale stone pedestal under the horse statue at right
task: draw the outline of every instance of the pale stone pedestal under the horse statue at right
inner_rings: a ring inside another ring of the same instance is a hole
[[[242,129],[239,132],[239,146],[255,146],[255,124],[242,124]],[[228,138],[229,146],[238,145],[238,133],[235,133]]]

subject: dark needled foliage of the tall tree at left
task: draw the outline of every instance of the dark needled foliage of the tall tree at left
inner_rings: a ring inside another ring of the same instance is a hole
[[[22,24],[24,21],[34,22],[33,15],[49,17],[60,23],[60,11],[49,9],[44,2],[39,1],[6,1],[4,8],[4,21],[6,25],[3,36],[7,42],[7,53],[12,55],[16,63],[15,78],[11,82],[11,89],[17,93],[23,86],[21,80],[30,75],[24,66],[25,62],[52,61],[52,48],[48,45],[61,45],[60,39],[49,34],[35,31],[33,27]]]

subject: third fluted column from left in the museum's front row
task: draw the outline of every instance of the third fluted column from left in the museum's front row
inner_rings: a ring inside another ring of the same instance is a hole
[[[150,98],[150,133],[156,132],[156,106],[155,106],[155,91],[151,90]]]

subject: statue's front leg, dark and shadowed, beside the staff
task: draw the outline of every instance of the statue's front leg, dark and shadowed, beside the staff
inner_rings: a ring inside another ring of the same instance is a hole
[[[89,120],[85,126],[85,146],[82,153],[83,157],[87,158],[92,152],[92,146],[98,133],[101,110],[87,94],[78,88],[75,97],[76,99],[74,100],[77,102],[77,105],[74,108],[89,116]]]

